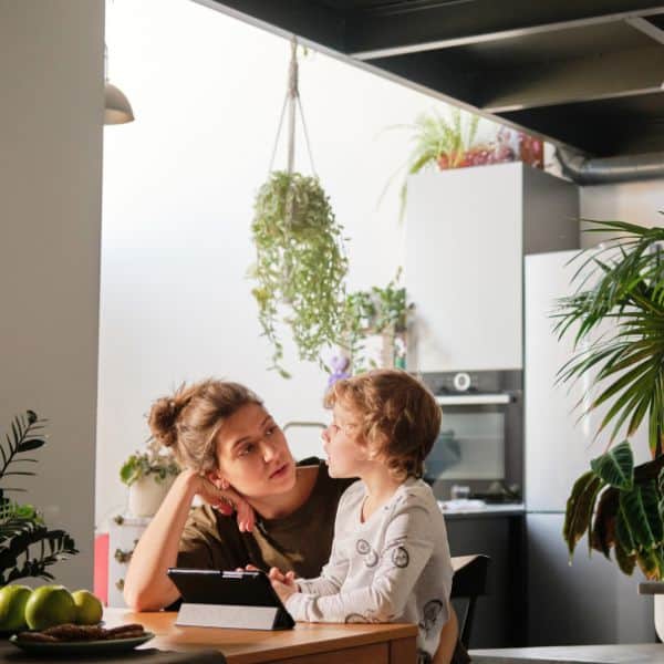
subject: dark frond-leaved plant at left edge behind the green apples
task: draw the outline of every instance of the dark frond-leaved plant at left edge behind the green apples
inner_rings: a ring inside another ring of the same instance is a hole
[[[48,528],[32,505],[19,504],[7,496],[9,491],[25,489],[3,484],[9,477],[35,475],[24,469],[27,466],[17,465],[37,463],[35,458],[25,455],[45,444],[45,423],[33,411],[27,411],[13,418],[11,430],[6,433],[4,440],[0,440],[0,587],[27,577],[52,580],[48,568],[79,552],[68,532]]]

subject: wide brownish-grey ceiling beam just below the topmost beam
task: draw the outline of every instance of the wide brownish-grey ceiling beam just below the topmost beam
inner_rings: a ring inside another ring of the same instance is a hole
[[[474,104],[488,113],[661,92],[661,46],[484,72]]]

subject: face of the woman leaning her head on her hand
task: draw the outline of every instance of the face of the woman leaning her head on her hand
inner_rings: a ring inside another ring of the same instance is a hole
[[[295,461],[282,430],[258,404],[246,404],[217,434],[219,478],[248,498],[282,494],[295,484]]]

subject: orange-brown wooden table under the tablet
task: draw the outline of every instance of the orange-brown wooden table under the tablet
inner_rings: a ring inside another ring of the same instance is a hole
[[[413,624],[298,623],[293,630],[178,627],[177,613],[134,613],[106,609],[106,626],[141,623],[156,637],[146,647],[187,651],[218,649],[229,664],[414,664],[417,627]]]

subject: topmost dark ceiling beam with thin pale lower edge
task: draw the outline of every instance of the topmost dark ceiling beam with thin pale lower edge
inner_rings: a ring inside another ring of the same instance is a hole
[[[460,0],[347,14],[346,52],[393,58],[664,12],[662,0]]]

